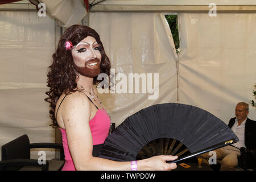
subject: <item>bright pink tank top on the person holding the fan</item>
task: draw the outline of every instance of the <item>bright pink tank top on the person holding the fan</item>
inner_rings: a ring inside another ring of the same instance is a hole
[[[98,109],[96,115],[89,121],[90,130],[92,132],[93,145],[103,144],[108,137],[110,128],[110,118],[105,109]],[[62,143],[65,154],[65,164],[62,171],[75,171],[75,165],[68,148],[67,134],[64,129],[61,129]]]

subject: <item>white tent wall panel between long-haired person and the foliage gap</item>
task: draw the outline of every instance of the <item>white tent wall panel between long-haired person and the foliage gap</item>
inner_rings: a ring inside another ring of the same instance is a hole
[[[131,94],[117,92],[101,94],[100,98],[109,111],[112,122],[119,125],[129,115],[144,107],[176,102],[177,57],[164,14],[92,13],[90,22],[90,27],[100,34],[115,74],[124,73],[128,78],[129,73],[139,75],[152,73],[154,84],[156,82],[153,75],[159,74],[159,95],[155,99],[149,99],[148,92],[142,93],[142,85],[146,84],[142,80],[138,94],[135,90]],[[117,86],[120,81],[117,80],[115,85]],[[135,88],[134,84],[133,88]],[[127,82],[127,90],[128,87]]]

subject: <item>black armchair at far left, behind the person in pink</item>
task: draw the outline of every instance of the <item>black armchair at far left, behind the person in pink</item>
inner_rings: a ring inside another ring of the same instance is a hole
[[[56,148],[60,151],[60,160],[46,160],[39,164],[37,159],[30,159],[31,148]],[[63,167],[64,150],[60,143],[30,143],[27,135],[12,140],[2,146],[0,171],[58,171]]]

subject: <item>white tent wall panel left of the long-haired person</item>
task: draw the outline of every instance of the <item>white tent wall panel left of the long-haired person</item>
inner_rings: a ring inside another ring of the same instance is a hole
[[[23,134],[31,143],[55,142],[44,101],[54,49],[54,20],[35,11],[0,11],[0,146]],[[47,152],[47,159],[54,153]]]

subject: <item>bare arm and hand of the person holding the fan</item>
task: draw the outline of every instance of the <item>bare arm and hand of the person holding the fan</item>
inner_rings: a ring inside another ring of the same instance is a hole
[[[82,93],[67,96],[63,103],[62,118],[67,133],[69,151],[77,170],[131,170],[130,162],[115,162],[92,155],[93,141],[90,131],[90,103]],[[176,164],[167,164],[166,160],[175,160],[176,156],[155,156],[138,160],[138,170],[170,170]]]

